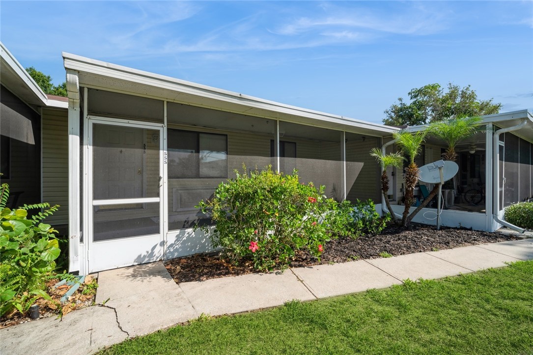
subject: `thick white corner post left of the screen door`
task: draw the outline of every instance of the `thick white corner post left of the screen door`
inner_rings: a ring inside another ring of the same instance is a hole
[[[68,93],[68,234],[69,234],[69,272],[80,271],[79,246],[79,82],[78,72],[67,69]]]

